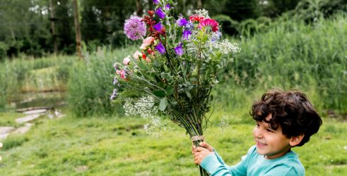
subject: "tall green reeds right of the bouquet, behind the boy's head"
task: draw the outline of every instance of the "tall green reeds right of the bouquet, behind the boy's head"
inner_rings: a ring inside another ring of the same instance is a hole
[[[317,108],[347,113],[346,36],[346,14],[313,25],[278,20],[267,32],[240,39],[242,51],[227,70],[228,85],[256,93],[274,87],[302,89]],[[223,102],[233,96],[227,91],[223,87],[220,92]]]

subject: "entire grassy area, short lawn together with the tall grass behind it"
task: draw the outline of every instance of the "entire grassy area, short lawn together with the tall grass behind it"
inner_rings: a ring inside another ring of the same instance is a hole
[[[225,82],[213,92],[216,108],[206,140],[226,163],[237,163],[254,144],[254,122],[248,114],[252,101],[274,87],[301,89],[322,115],[323,126],[311,142],[294,151],[307,175],[346,175],[346,14],[310,25],[288,15],[261,31],[232,38],[242,51],[220,73]],[[175,129],[155,138],[143,130],[146,120],[124,117],[122,105],[109,100],[113,63],[137,47],[85,51],[85,62],[73,56],[2,62],[2,111],[13,111],[11,102],[20,99],[20,93],[58,87],[67,90],[67,114],[40,118],[28,134],[9,136],[0,150],[1,175],[196,175],[191,143],[180,127],[170,124]],[[0,124],[15,125],[21,116],[1,113]],[[230,125],[216,127],[223,117]]]

